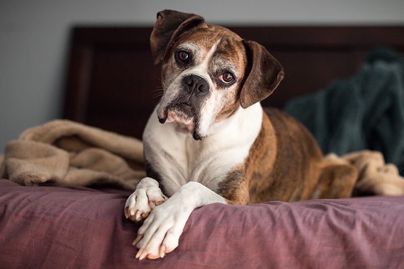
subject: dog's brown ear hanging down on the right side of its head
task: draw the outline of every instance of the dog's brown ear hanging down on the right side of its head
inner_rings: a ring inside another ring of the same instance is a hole
[[[247,55],[247,71],[240,91],[243,109],[264,100],[283,79],[283,67],[268,50],[254,41],[243,40]],[[249,72],[248,72],[249,71]]]

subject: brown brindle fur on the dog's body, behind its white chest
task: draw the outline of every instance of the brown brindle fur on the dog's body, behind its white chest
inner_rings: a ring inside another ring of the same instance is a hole
[[[346,198],[351,196],[356,178],[354,167],[324,159],[302,124],[267,108],[248,157],[229,172],[219,193],[230,204]]]

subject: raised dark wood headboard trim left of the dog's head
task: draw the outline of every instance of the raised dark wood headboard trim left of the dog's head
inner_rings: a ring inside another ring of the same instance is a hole
[[[153,28],[75,27],[72,31],[63,118],[85,123],[93,52],[99,47],[149,49]]]

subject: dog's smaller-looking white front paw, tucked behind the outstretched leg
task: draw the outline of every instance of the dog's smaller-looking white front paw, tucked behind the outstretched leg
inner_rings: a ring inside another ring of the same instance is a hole
[[[128,197],[125,204],[125,217],[133,222],[146,219],[153,208],[162,204],[167,197],[159,188],[159,183],[152,178],[143,178],[136,190]]]

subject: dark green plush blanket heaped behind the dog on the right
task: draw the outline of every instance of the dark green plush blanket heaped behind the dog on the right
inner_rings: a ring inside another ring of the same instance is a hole
[[[378,150],[404,174],[404,58],[389,48],[368,56],[357,74],[289,101],[324,154]]]

